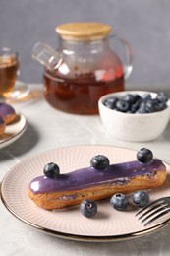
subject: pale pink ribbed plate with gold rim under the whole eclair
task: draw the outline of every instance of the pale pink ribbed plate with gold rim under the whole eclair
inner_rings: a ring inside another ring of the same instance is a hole
[[[138,237],[169,224],[166,220],[151,226],[143,226],[135,217],[137,209],[116,211],[109,200],[98,202],[98,213],[94,218],[85,218],[79,208],[48,211],[37,207],[28,198],[28,184],[34,177],[43,174],[43,166],[50,161],[59,164],[61,172],[89,166],[90,159],[103,154],[111,163],[136,160],[136,152],[107,146],[76,146],[54,149],[22,160],[4,177],[1,184],[1,198],[6,208],[24,223],[67,239],[84,241],[116,241]],[[167,165],[168,174],[170,166]],[[150,191],[151,200],[170,195],[170,178],[165,184]]]

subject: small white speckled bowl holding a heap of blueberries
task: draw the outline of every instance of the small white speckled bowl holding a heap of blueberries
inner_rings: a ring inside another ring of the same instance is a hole
[[[151,141],[160,136],[170,119],[170,100],[168,107],[162,111],[146,114],[123,113],[109,109],[103,102],[111,96],[122,97],[129,94],[140,96],[149,93],[156,97],[156,93],[145,91],[124,91],[102,96],[98,101],[99,114],[107,133],[123,141],[142,142]]]

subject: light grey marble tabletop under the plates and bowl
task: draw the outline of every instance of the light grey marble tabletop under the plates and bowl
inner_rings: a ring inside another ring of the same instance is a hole
[[[0,149],[0,180],[21,160],[48,149],[75,145],[113,145],[138,150],[152,149],[170,163],[170,124],[157,140],[147,143],[117,141],[104,133],[99,116],[81,116],[53,109],[42,96],[42,85],[29,85],[33,98],[16,102],[28,119],[23,136]],[[170,226],[126,241],[86,243],[64,240],[39,232],[15,218],[0,202],[0,255],[169,255]]]

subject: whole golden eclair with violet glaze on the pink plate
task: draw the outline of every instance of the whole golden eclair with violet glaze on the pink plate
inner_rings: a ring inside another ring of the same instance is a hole
[[[55,178],[41,175],[28,184],[28,197],[48,210],[79,205],[85,199],[101,200],[115,193],[159,187],[166,180],[167,171],[162,160],[139,160],[109,164],[105,169],[93,166],[59,174]]]

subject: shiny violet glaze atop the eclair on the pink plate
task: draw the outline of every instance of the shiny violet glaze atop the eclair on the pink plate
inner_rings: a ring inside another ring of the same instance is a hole
[[[154,159],[147,165],[138,160],[111,164],[105,170],[96,170],[93,167],[81,168],[67,174],[60,174],[57,178],[38,176],[34,178],[29,189],[33,194],[79,190],[96,184],[125,184],[128,179],[136,176],[154,176],[157,170],[166,171],[161,160]]]

